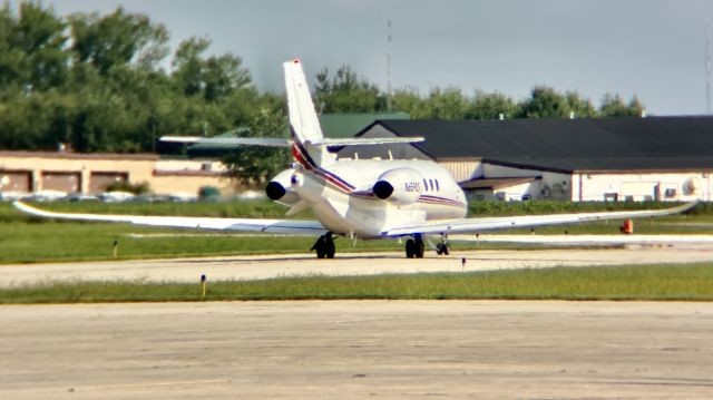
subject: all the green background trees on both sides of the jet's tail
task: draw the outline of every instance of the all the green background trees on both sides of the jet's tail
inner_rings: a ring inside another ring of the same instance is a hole
[[[0,148],[139,153],[167,134],[285,135],[283,95],[260,91],[242,59],[208,55],[211,40],[192,37],[175,50],[169,33],[147,16],[58,16],[23,1],[0,8]],[[465,95],[434,88],[428,96],[398,89],[387,96],[344,66],[316,75],[321,113],[398,110],[411,118],[491,119],[638,116],[636,98],[607,95],[595,107],[577,92],[536,87],[521,101],[499,92]],[[285,153],[242,149],[226,158],[240,178],[262,178],[284,167]]]

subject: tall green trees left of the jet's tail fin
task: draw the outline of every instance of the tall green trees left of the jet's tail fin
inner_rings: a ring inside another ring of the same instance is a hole
[[[283,118],[282,96],[256,90],[240,57],[207,56],[209,39],[196,37],[169,53],[168,38],[163,25],[121,8],[59,17],[39,2],[17,10],[6,2],[0,146],[150,152],[164,134],[214,135]]]

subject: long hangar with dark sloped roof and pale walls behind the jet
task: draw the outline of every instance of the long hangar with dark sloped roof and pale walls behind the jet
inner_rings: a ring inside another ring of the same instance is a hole
[[[713,199],[713,117],[377,120],[340,158],[433,159],[472,199]]]

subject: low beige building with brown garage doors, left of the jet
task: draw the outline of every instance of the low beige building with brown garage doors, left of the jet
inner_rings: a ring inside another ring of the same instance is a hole
[[[158,195],[197,194],[202,186],[234,194],[219,162],[160,159],[157,155],[0,152],[0,193],[57,191],[98,194],[116,181],[148,183]]]

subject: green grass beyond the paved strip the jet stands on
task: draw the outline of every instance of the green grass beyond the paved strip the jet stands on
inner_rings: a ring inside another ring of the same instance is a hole
[[[47,203],[43,208],[76,213],[111,213],[145,215],[188,215],[216,217],[282,217],[285,207],[267,201],[228,203]],[[478,215],[543,214],[587,212],[603,209],[661,207],[661,204],[573,204],[539,203],[479,203]],[[671,206],[664,204],[663,206]],[[487,214],[486,214],[487,213]],[[309,213],[300,218],[311,218]],[[538,234],[616,233],[618,222],[538,228]],[[504,233],[529,233],[504,231]],[[713,212],[701,205],[692,215],[676,215],[636,222],[636,232],[649,233],[713,233]],[[191,233],[191,235],[170,235]],[[141,236],[138,236],[138,235]],[[257,253],[306,253],[314,237],[219,235],[205,232],[148,228],[127,224],[55,222],[29,217],[0,203],[0,263],[36,263],[53,261],[89,261],[114,257],[114,242],[118,241],[118,258],[149,258],[172,256],[234,255]],[[395,241],[358,242],[336,241],[338,253],[344,251],[401,251]],[[453,247],[473,248],[473,243],[453,243]],[[481,244],[479,248],[527,248],[515,244]]]

